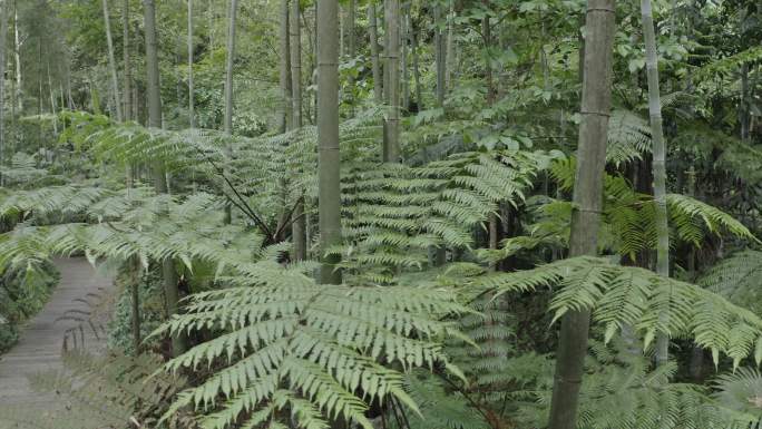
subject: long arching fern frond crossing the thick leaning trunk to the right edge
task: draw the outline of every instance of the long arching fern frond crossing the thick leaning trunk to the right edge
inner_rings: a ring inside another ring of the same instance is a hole
[[[660,333],[672,338],[690,335],[712,350],[715,364],[720,353],[733,359],[734,367],[755,354],[762,341],[762,319],[698,286],[654,272],[614,265],[606,260],[575,257],[515,273],[476,277],[473,286],[498,293],[535,291],[560,285],[550,302],[554,321],[573,310],[590,310],[593,320],[604,326],[610,341],[623,326],[632,326],[647,349]],[[670,314],[667,319],[658,314]],[[758,363],[762,357],[754,355]]]

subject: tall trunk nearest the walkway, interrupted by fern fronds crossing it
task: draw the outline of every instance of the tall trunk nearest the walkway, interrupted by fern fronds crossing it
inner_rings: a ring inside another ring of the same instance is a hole
[[[156,6],[154,0],[143,0],[146,38],[146,97],[148,98],[148,126],[162,127],[162,92],[158,68],[158,45],[156,41]],[[167,175],[160,162],[153,167],[154,188],[157,194],[166,194]],[[179,290],[175,263],[172,259],[162,261],[162,276],[164,282],[164,295],[166,300],[167,315],[177,313]],[[182,335],[172,338],[172,352],[177,357],[186,350],[185,338]]]

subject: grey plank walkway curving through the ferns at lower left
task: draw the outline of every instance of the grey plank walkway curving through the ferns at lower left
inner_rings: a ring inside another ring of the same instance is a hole
[[[113,281],[98,273],[84,257],[57,259],[53,262],[60,272],[60,282],[50,301],[23,328],[18,344],[0,355],[0,408],[51,408],[55,398],[36,393],[27,376],[61,369],[67,331],[79,324],[75,320],[61,318],[72,314],[72,310],[91,312],[92,306],[86,301],[94,301],[101,291],[113,287]],[[85,350],[98,351],[105,345],[106,335],[99,332],[96,337],[87,323],[82,333]],[[74,345],[71,340],[68,340],[68,344],[69,348]],[[77,333],[77,347],[81,344],[80,333]]]

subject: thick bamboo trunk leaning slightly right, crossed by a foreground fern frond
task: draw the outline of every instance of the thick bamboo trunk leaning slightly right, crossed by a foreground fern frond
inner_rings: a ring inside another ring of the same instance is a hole
[[[572,216],[570,256],[594,255],[603,207],[603,175],[612,106],[614,0],[588,0],[586,11],[585,77],[577,172]],[[590,313],[570,311],[561,319],[548,429],[575,429],[579,387],[587,355]]]

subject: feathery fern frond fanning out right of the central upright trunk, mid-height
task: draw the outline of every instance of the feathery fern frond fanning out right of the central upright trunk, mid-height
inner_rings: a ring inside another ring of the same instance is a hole
[[[343,266],[371,282],[422,267],[429,248],[472,248],[499,205],[519,205],[554,155],[462,153],[420,167],[352,165],[343,175]],[[372,167],[372,168],[371,168]],[[359,280],[362,281],[362,280]]]

